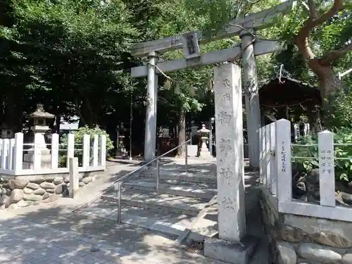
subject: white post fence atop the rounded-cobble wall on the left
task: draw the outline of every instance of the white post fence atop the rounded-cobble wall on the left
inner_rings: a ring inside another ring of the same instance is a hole
[[[68,172],[68,159],[73,158],[77,153],[82,153],[82,165],[78,168],[79,172],[106,168],[105,135],[100,137],[94,135],[91,140],[89,134],[85,134],[82,144],[75,145],[75,135],[68,134],[68,143],[63,145],[59,144],[58,134],[52,134],[51,144],[46,144],[51,149],[50,151],[46,149],[46,152],[50,153],[50,168],[42,168],[43,145],[40,137],[42,135],[35,134],[33,144],[23,144],[23,133],[16,133],[14,139],[0,139],[0,173],[7,175],[65,173]],[[31,169],[24,166],[23,157],[28,149],[26,146],[32,147],[33,150]],[[59,151],[64,151],[66,156],[65,168],[59,168]]]

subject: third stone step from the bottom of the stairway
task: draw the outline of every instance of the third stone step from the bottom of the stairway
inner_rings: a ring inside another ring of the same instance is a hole
[[[156,179],[145,178],[124,182],[123,187],[140,191],[156,192]],[[199,182],[180,182],[176,180],[163,180],[159,183],[161,194],[171,194],[176,196],[195,197],[200,199],[212,199],[217,193],[216,184]]]

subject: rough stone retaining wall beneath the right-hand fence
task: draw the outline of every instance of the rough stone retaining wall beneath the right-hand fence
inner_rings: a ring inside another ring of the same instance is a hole
[[[275,264],[352,264],[352,223],[277,213],[260,201],[270,260]]]

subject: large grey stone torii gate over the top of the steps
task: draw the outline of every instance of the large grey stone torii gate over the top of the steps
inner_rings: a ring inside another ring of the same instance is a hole
[[[156,149],[156,101],[158,99],[158,68],[167,73],[174,70],[182,70],[188,67],[233,61],[234,58],[242,57],[244,68],[244,88],[246,99],[246,121],[249,137],[249,158],[253,167],[259,167],[259,134],[260,106],[258,98],[258,80],[256,75],[255,56],[281,51],[282,46],[271,40],[257,40],[253,42],[253,34],[249,30],[260,30],[270,26],[279,14],[285,14],[291,9],[291,1],[284,2],[258,13],[246,15],[244,18],[236,18],[229,25],[223,27],[218,34],[206,38],[204,32],[188,32],[172,37],[165,37],[149,42],[143,42],[132,46],[131,54],[135,57],[148,56],[147,65],[132,68],[132,77],[148,77],[146,108],[146,128],[144,139],[144,158],[151,161]],[[245,29],[245,30],[244,30]],[[241,46],[233,46],[229,49],[213,51],[208,54],[199,53],[199,43],[225,39],[239,34]],[[187,50],[187,45],[194,46],[194,52]],[[184,49],[184,59],[164,61],[158,63],[158,56],[165,51]]]

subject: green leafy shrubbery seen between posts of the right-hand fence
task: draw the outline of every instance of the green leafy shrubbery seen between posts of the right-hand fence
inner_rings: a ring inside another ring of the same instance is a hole
[[[318,137],[306,136],[301,137],[297,140],[296,144],[300,145],[312,145],[316,146],[293,146],[292,156],[294,157],[306,157],[294,158],[294,162],[303,165],[306,171],[310,171],[313,168],[319,168],[318,160]],[[352,129],[342,127],[334,131],[334,144],[351,144],[351,146],[334,146],[334,165],[335,165],[335,177],[337,180],[345,180],[348,182],[352,181]],[[347,158],[347,159],[336,159],[336,158]]]

